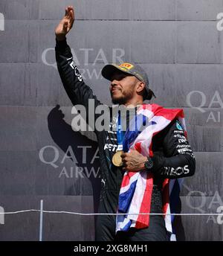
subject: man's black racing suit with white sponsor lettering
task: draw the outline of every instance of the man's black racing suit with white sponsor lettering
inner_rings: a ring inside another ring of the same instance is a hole
[[[88,99],[94,100],[95,108],[102,103],[87,86],[81,77],[66,40],[56,41],[56,63],[65,91],[71,102],[82,104],[88,111]],[[87,112],[88,114],[88,112]],[[97,114],[95,114],[95,120]],[[126,116],[128,119],[129,117]],[[87,120],[88,121],[88,120]],[[111,159],[117,150],[117,132],[96,130],[100,155],[100,171],[102,176],[100,192],[100,213],[115,214],[117,212],[120,184],[123,170],[115,167]],[[152,139],[152,156],[154,185],[152,189],[151,212],[162,213],[161,189],[164,179],[175,179],[192,176],[195,172],[195,157],[190,149],[184,130],[177,120],[172,121],[165,129]],[[119,231],[115,234],[115,216],[101,215],[97,217],[95,227],[96,240],[168,240],[164,217],[150,216],[149,228]]]

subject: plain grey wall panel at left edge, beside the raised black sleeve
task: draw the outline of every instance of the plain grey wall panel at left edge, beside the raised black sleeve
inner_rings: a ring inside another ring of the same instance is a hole
[[[43,63],[0,63],[0,85],[1,105],[56,106],[59,103],[58,71]]]

